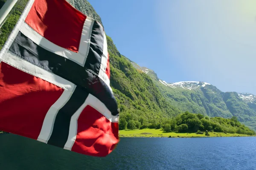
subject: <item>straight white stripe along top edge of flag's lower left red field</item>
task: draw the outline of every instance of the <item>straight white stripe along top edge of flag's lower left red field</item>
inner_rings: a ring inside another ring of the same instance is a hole
[[[13,67],[35,77],[44,79],[45,81],[57,85],[58,87],[61,87],[65,90],[72,91],[74,88],[74,84],[72,82],[63,79],[56,74],[50,73],[43,68],[33,65],[32,63],[27,62],[26,60],[16,56],[10,51],[8,51],[6,56],[3,58],[3,62],[6,62],[7,64],[12,65]]]

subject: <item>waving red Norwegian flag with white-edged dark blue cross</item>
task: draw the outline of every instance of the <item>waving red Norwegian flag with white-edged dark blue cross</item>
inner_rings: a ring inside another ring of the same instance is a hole
[[[0,130],[107,156],[118,118],[103,27],[65,0],[29,0],[0,51]]]

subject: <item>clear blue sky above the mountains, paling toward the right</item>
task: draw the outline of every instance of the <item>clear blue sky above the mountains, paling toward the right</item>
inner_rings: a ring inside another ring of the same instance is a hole
[[[88,0],[121,54],[166,82],[256,94],[255,0]]]

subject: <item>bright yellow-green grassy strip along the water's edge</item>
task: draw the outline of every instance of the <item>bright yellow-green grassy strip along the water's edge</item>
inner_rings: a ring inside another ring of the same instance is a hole
[[[209,132],[210,136],[196,133],[165,133],[161,129],[136,129],[136,130],[119,130],[120,137],[175,137],[175,138],[195,138],[195,137],[242,137],[242,136],[256,136],[245,135],[238,133],[221,133],[221,132]]]

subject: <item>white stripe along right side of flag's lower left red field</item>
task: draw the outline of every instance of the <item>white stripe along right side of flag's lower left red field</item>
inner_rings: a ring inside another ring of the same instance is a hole
[[[55,122],[55,118],[57,116],[58,111],[68,102],[70,97],[72,96],[74,90],[76,88],[76,85],[73,86],[72,91],[64,91],[63,94],[61,94],[60,98],[51,106],[49,111],[47,112],[44,123],[40,132],[40,135],[38,136],[38,141],[47,143],[52,135],[52,129]]]

